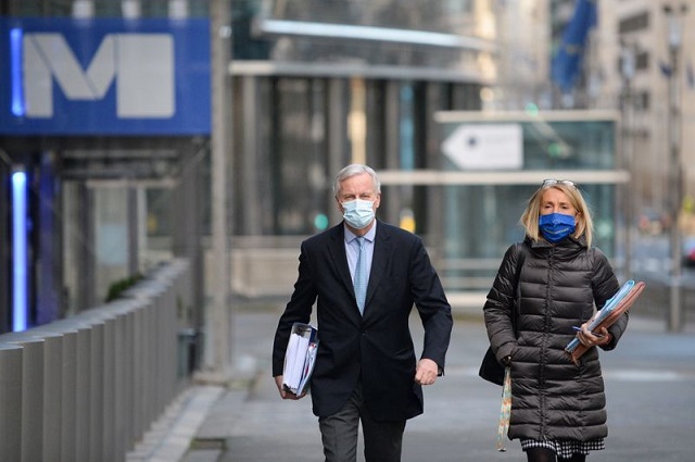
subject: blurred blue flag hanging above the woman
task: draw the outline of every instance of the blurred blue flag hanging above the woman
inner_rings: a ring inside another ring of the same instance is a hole
[[[574,14],[563,34],[563,41],[553,59],[552,78],[563,91],[569,90],[582,62],[589,30],[596,25],[596,2],[577,0]]]

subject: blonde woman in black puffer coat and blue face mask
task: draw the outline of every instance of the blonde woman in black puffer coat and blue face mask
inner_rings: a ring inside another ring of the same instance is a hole
[[[586,329],[594,307],[601,310],[620,286],[607,258],[591,247],[592,218],[572,182],[544,182],[521,224],[527,237],[505,253],[483,309],[492,350],[511,367],[508,437],[521,440],[529,462],[582,462],[604,449],[608,434],[604,380],[596,348],[574,364],[565,347],[577,336],[587,347],[614,349],[628,314],[608,329]]]

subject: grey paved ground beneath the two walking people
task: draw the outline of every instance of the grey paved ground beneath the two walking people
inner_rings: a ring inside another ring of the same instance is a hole
[[[205,416],[189,420],[190,448],[168,462],[321,462],[323,451],[311,398],[283,401],[270,377],[277,310],[242,311],[235,317],[235,352],[242,382],[223,388],[194,386]],[[416,344],[420,335],[413,319]],[[416,345],[417,346],[417,345]],[[477,370],[488,346],[480,319],[456,320],[446,376],[425,388],[425,414],[408,421],[403,462],[525,461],[518,441],[507,452],[494,449],[500,389]],[[620,347],[602,354],[606,376],[610,436],[596,460],[634,462],[692,460],[695,404],[695,327],[668,334],[665,323],[632,316]],[[205,397],[205,398],[203,398]],[[206,401],[206,399],[208,399]],[[192,400],[189,400],[192,408]],[[186,409],[186,407],[182,407]],[[176,442],[170,438],[167,445]],[[179,441],[180,447],[180,441]],[[147,460],[147,459],[142,459]],[[363,460],[358,458],[358,461]],[[154,462],[155,459],[150,459]]]

